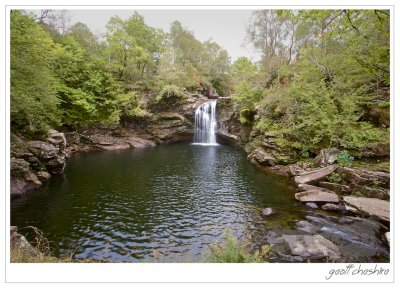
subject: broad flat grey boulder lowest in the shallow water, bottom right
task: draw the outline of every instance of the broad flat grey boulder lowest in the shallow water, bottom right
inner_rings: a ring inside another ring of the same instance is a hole
[[[283,235],[282,237],[289,246],[291,254],[303,259],[338,260],[340,258],[338,247],[321,235]]]

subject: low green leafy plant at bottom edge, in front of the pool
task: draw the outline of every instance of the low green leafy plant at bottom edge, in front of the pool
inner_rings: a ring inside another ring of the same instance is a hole
[[[269,254],[270,246],[264,245],[259,251],[249,253],[246,244],[238,243],[231,229],[224,230],[225,243],[210,246],[211,254],[207,258],[210,263],[263,263]]]

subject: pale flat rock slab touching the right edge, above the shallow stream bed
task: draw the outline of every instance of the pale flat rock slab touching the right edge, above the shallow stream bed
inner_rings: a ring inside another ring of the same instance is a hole
[[[356,198],[353,196],[343,197],[346,209],[351,211],[362,211],[377,216],[381,220],[390,221],[390,203],[375,198]]]

